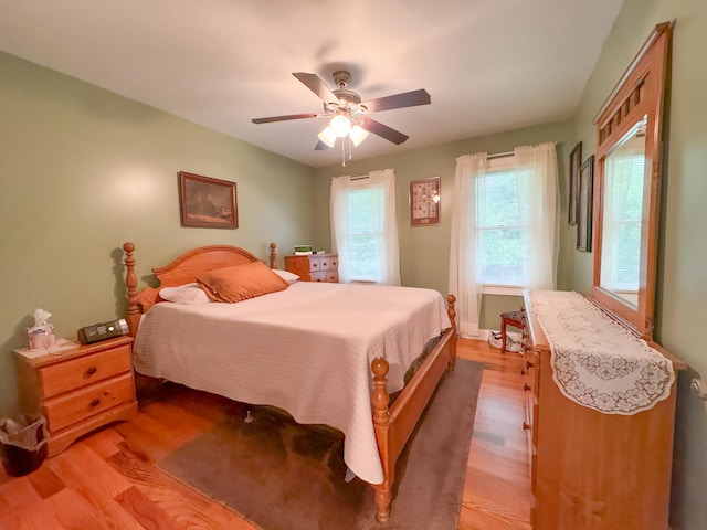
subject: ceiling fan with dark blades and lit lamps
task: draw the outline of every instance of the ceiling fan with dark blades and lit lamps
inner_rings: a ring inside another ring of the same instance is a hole
[[[316,74],[295,72],[294,75],[307,88],[314,92],[324,102],[324,114],[305,113],[289,114],[285,116],[272,116],[268,118],[253,118],[254,124],[270,124],[289,119],[330,118],[329,125],[319,132],[319,142],[315,149],[334,147],[337,138],[350,138],[354,146],[358,146],[372,132],[386,140],[400,145],[409,137],[402,132],[376,121],[368,116],[369,113],[391,110],[394,108],[414,107],[430,104],[430,94],[425,89],[404,92],[392,96],[379,97],[361,102],[361,96],[347,89],[351,81],[351,74],[339,70],[334,73],[334,83],[338,88],[331,91]]]

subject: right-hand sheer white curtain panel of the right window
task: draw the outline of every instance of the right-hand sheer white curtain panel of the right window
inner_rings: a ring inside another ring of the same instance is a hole
[[[556,244],[559,241],[559,204],[555,142],[517,147],[514,155],[519,187],[527,186],[528,242],[524,287],[555,290],[559,254]]]

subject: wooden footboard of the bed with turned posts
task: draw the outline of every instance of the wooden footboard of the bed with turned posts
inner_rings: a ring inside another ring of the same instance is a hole
[[[373,393],[371,396],[373,427],[384,477],[382,484],[371,485],[376,490],[376,518],[380,522],[386,522],[390,517],[395,462],[430,402],[440,379],[446,370],[454,370],[456,361],[455,301],[454,295],[447,296],[447,312],[452,327],[444,331],[430,356],[390,407],[388,406],[390,396],[386,391],[388,361],[377,358],[371,363],[373,372]]]

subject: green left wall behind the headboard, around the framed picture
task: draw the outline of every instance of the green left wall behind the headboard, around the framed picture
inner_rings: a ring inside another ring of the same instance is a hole
[[[180,227],[181,170],[236,182],[238,230]],[[11,350],[34,309],[66,338],[124,315],[124,242],[144,285],[188,248],[265,259],[314,227],[310,168],[3,53],[0,182],[0,417],[15,413]]]

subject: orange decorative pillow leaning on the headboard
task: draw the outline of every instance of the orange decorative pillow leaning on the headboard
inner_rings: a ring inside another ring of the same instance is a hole
[[[217,268],[197,276],[197,282],[214,301],[235,303],[285,290],[289,284],[262,262]]]

